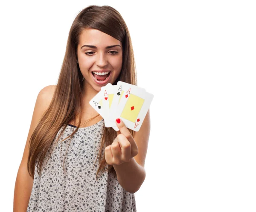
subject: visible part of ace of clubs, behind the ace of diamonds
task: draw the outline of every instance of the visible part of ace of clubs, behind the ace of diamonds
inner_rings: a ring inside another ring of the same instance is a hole
[[[118,81],[116,87],[114,87],[113,100],[112,100],[110,115],[109,115],[110,120],[112,122],[116,121],[116,111],[118,110],[119,102],[122,99],[124,93],[129,88],[145,91],[144,88],[138,87],[136,85],[132,85],[132,84],[129,84],[129,83],[126,83],[126,82]]]

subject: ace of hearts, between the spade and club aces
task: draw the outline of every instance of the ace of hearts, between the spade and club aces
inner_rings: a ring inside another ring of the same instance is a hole
[[[106,86],[101,88],[103,93],[103,110],[105,114],[105,127],[113,127],[116,131],[119,131],[115,121],[110,120],[110,109],[113,101],[116,85],[108,83]]]

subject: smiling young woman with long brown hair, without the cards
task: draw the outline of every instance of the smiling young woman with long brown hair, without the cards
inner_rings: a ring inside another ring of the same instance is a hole
[[[38,94],[17,173],[14,212],[136,212],[145,180],[149,111],[140,131],[105,128],[89,101],[108,83],[137,85],[122,16],[88,6],[75,18],[57,85]]]

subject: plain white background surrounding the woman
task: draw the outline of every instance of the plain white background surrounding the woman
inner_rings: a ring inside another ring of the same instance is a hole
[[[89,5],[120,12],[131,34],[138,85],[154,94],[137,211],[256,210],[255,4],[166,3],[1,3],[1,211],[12,211],[38,92],[57,83],[70,26]]]

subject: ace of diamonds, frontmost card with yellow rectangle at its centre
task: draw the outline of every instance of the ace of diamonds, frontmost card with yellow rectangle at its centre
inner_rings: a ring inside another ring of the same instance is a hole
[[[117,86],[122,86],[123,94],[117,107],[111,107],[116,110],[114,120],[120,118],[127,128],[139,131],[154,96],[145,89],[121,81]]]

